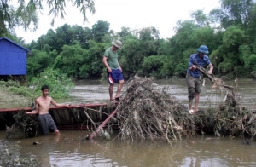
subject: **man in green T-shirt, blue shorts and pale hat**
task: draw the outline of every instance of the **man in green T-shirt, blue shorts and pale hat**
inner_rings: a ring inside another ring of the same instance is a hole
[[[114,96],[114,100],[119,101],[119,95],[121,89],[123,88],[123,84],[125,83],[124,77],[122,74],[122,68],[119,65],[117,50],[122,49],[123,43],[119,40],[116,40],[112,43],[112,46],[106,49],[102,62],[104,66],[107,67],[108,73],[108,83],[109,83],[109,96],[110,101],[113,101],[113,85],[114,83],[119,83],[116,95]]]

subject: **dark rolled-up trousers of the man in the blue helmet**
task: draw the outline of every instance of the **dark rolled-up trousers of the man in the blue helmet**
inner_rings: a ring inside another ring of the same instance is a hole
[[[189,100],[191,100],[195,98],[195,93],[201,93],[201,79],[194,78],[191,75],[189,75],[189,73],[187,73],[186,80],[189,91]]]

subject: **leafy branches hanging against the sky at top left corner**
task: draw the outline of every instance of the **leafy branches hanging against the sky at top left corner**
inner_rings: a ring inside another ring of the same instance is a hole
[[[94,0],[71,0],[71,2],[83,14],[84,22],[87,20],[87,9],[91,13],[95,13]],[[46,2],[49,7],[49,15],[52,16],[52,25],[54,24],[55,17],[65,17],[66,3],[67,1],[65,0],[49,0]],[[38,13],[44,11],[43,0],[19,0],[17,5],[17,8],[15,8],[9,0],[0,1],[0,36],[16,26],[22,26],[25,30],[30,29],[30,27],[32,27],[32,30],[38,28]]]

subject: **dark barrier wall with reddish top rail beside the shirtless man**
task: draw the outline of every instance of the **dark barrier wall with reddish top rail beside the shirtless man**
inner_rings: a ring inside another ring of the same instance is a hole
[[[65,106],[49,107],[49,114],[51,114],[58,128],[85,129],[88,127],[87,125],[90,125],[90,120],[84,112],[88,113],[89,117],[95,123],[100,123],[108,118],[108,114],[113,112],[114,109],[115,105],[109,107],[107,104],[79,104],[70,106],[70,108]],[[13,116],[21,111],[29,112],[32,111],[32,108],[20,107],[0,109],[0,130],[5,129],[6,125],[15,123]]]

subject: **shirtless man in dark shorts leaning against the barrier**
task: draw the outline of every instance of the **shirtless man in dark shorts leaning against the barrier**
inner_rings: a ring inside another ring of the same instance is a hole
[[[69,107],[69,105],[58,104],[51,97],[49,97],[48,85],[42,86],[41,90],[42,96],[38,97],[38,99],[36,100],[35,110],[33,110],[32,112],[26,112],[26,114],[38,114],[38,122],[40,124],[43,135],[48,135],[49,132],[55,132],[55,135],[61,135],[60,131],[57,129],[53,118],[49,114],[49,106],[50,104],[53,104],[55,107]]]

